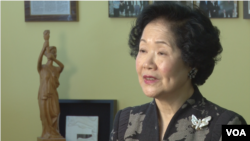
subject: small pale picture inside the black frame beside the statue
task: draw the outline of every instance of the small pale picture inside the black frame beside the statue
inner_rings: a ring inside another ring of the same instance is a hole
[[[98,116],[66,116],[66,141],[98,141]]]

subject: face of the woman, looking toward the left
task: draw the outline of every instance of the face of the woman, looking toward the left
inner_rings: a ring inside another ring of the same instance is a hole
[[[150,22],[140,40],[136,71],[148,97],[159,98],[191,84],[191,68],[184,64],[168,25],[163,19]]]

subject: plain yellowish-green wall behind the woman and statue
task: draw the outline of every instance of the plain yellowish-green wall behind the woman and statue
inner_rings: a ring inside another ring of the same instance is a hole
[[[134,18],[109,18],[107,1],[80,1],[79,22],[25,22],[23,1],[1,1],[1,141],[34,141],[41,135],[37,102],[38,55],[43,31],[65,65],[61,99],[116,99],[118,109],[152,99],[137,81],[129,56],[128,33]],[[213,19],[221,30],[222,60],[202,94],[250,123],[250,20]],[[45,63],[45,58],[44,62]]]

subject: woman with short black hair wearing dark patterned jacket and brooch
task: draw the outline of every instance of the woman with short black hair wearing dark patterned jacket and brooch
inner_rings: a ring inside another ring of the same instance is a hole
[[[167,3],[145,8],[130,32],[139,83],[148,104],[120,110],[111,141],[219,141],[239,114],[202,96],[222,52],[219,30],[198,8]]]

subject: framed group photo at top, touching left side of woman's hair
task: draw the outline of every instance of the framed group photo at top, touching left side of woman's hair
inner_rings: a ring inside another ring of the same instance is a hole
[[[108,0],[109,17],[137,17],[148,0]]]

